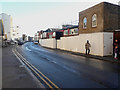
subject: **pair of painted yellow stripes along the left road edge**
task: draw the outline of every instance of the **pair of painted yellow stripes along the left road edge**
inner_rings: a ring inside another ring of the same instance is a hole
[[[30,62],[28,62],[16,49],[14,49],[14,54],[15,54],[15,52],[22,58],[22,61],[24,61],[24,63],[26,63],[27,64],[27,66],[29,67],[29,68],[31,68],[36,74],[37,74],[37,76],[39,77],[39,78],[41,78],[44,82],[45,82],[45,84],[46,85],[48,85],[50,88],[53,88],[46,80],[48,80],[55,88],[57,88],[58,90],[60,90],[60,88],[57,86],[57,85],[55,85],[48,77],[46,77],[42,72],[40,72],[35,66],[33,66]],[[15,56],[17,56],[16,54],[15,54]],[[17,56],[18,57],[18,56]],[[20,60],[20,58],[18,57],[18,59]],[[21,60],[20,60],[21,61]],[[31,65],[31,66],[30,66]],[[42,77],[39,75],[39,73],[37,73],[36,71],[38,71],[41,75],[42,75]],[[44,79],[44,78],[46,79]]]

